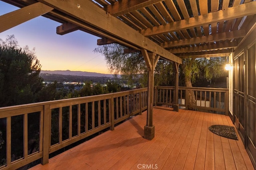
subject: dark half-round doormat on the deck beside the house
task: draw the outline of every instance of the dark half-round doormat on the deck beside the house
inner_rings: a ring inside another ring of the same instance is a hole
[[[236,130],[232,126],[226,125],[212,125],[209,127],[209,130],[216,135],[226,137],[229,139],[238,140],[236,135]]]

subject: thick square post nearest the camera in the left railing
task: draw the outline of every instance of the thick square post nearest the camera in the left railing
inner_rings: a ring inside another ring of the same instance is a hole
[[[49,162],[49,148],[50,148],[50,105],[44,105],[44,127],[43,127],[43,157],[41,159],[41,164],[47,164]]]

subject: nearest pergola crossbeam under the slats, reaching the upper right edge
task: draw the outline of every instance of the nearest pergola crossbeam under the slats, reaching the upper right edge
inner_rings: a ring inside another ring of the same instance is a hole
[[[241,4],[226,10],[219,10],[198,17],[192,17],[185,20],[175,21],[166,25],[159,25],[152,28],[142,29],[140,33],[146,37],[175,32],[194,27],[200,27],[211,23],[217,23],[226,20],[232,20],[244,16],[256,14],[256,1]]]

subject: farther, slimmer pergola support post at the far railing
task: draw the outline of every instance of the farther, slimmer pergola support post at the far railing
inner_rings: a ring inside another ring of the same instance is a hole
[[[178,87],[179,87],[179,63],[173,63],[175,72],[175,87],[174,87],[174,104],[172,105],[173,111],[179,111],[178,104]]]

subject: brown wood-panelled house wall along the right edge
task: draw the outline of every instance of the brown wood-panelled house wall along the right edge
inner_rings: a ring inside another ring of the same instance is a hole
[[[233,99],[234,125],[256,168],[256,28],[233,53]]]

